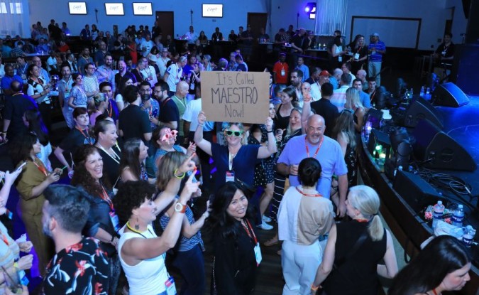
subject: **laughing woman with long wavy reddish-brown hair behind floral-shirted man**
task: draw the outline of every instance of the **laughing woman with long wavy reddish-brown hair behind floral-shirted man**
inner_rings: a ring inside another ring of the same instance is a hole
[[[90,210],[84,235],[100,240],[100,247],[107,254],[109,264],[109,291],[116,293],[120,277],[120,262],[116,245],[119,241],[119,220],[112,202],[113,193],[103,169],[103,159],[95,146],[80,146],[75,155],[72,186],[82,188],[89,195]]]

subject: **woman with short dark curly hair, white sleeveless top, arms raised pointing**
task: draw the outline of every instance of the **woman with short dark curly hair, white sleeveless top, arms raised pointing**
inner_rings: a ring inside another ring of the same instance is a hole
[[[118,245],[121,267],[130,286],[130,295],[176,294],[175,283],[167,273],[165,253],[175,247],[185,217],[187,201],[197,191],[199,183],[193,183],[191,174],[180,199],[175,203],[175,213],[170,217],[161,237],[155,235],[151,222],[156,215],[170,205],[180,188],[180,179],[192,171],[194,162],[190,156],[175,171],[175,177],[167,189],[153,201],[155,188],[146,181],[127,181],[113,200],[116,213],[126,225]]]

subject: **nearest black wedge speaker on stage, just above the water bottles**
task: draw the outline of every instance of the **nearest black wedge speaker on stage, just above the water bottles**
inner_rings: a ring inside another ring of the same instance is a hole
[[[444,200],[439,193],[418,174],[397,171],[392,188],[419,213],[427,205],[433,205],[437,200]]]

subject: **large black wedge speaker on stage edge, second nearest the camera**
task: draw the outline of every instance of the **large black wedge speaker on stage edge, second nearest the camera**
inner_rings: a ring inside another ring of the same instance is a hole
[[[457,141],[428,120],[419,121],[413,132],[414,156],[433,169],[474,171],[474,159]]]

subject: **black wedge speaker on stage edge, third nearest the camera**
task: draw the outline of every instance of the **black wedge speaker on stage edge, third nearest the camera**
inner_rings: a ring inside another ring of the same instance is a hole
[[[444,127],[441,114],[439,114],[439,112],[428,101],[424,100],[422,97],[417,97],[417,99],[414,100],[406,110],[406,114],[404,115],[404,126],[416,127],[417,123],[422,119],[428,119],[440,129],[443,129]]]

